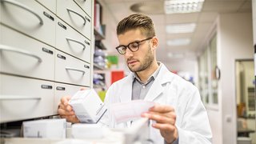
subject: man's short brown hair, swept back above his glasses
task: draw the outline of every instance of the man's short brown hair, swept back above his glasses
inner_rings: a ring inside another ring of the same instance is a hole
[[[139,28],[142,34],[147,37],[154,37],[154,23],[152,19],[143,14],[131,14],[130,16],[123,18],[118,22],[117,34],[124,34],[128,30],[134,30]]]

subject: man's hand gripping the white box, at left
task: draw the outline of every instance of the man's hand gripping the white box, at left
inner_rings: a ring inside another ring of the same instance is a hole
[[[79,120],[74,114],[74,110],[68,103],[70,101],[70,98],[71,96],[62,97],[61,102],[58,105],[58,114],[61,118],[66,118],[67,122],[78,123]]]

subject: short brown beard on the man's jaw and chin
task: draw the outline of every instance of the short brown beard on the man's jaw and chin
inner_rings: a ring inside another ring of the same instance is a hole
[[[127,59],[127,61],[129,61],[129,60],[130,59]],[[140,72],[140,71],[143,71],[143,70],[146,70],[147,68],[149,68],[152,65],[153,61],[154,61],[154,54],[152,53],[150,46],[149,46],[148,50],[146,51],[145,58],[143,58],[142,61],[139,61],[139,62],[141,62],[140,66],[133,67],[133,66],[128,65],[128,68],[132,72]]]

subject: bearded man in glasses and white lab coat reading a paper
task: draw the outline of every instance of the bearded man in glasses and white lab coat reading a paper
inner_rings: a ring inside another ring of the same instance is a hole
[[[118,23],[117,34],[120,45],[116,49],[133,73],[110,86],[106,106],[134,99],[156,102],[142,114],[154,121],[150,121],[150,139],[154,143],[211,143],[209,120],[198,89],[156,60],[158,38],[152,20],[132,14]],[[69,99],[62,98],[58,114],[69,122],[79,122],[67,104]],[[129,126],[129,122],[115,123],[108,113],[100,122],[110,127]]]

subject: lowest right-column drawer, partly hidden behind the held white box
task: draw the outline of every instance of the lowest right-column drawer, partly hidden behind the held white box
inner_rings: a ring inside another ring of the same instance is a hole
[[[74,95],[82,86],[67,85],[62,83],[55,83],[54,89],[54,114],[58,114],[58,104],[61,101],[61,98],[66,95]],[[89,88],[88,88],[89,89]]]

